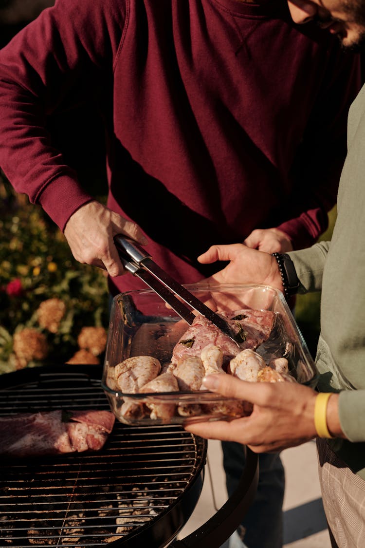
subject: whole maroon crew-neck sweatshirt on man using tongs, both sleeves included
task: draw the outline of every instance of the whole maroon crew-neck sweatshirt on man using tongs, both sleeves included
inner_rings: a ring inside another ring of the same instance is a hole
[[[108,206],[194,282],[220,268],[196,256],[255,228],[316,241],[359,86],[358,56],[279,0],[57,0],[0,52],[0,165],[63,230],[91,196],[47,117],[89,102],[105,121]]]

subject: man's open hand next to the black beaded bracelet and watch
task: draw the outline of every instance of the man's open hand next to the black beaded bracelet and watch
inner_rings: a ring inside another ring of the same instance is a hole
[[[230,262],[204,282],[260,284],[283,290],[276,259],[269,253],[235,243],[229,246],[212,246],[198,257],[198,261],[204,264],[218,260]]]

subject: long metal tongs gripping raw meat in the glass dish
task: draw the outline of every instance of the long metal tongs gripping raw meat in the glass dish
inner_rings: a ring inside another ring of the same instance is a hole
[[[167,274],[167,272],[161,269],[161,267],[152,260],[152,257],[147,251],[140,247],[134,240],[118,234],[117,236],[114,236],[114,243],[124,268],[132,275],[142,279],[147,286],[157,293],[161,299],[167,302],[167,304],[169,304],[188,324],[191,325],[193,323],[195,315],[186,304],[202,316],[205,316],[238,345],[235,340],[235,335],[231,332],[228,323],[225,322],[221,316],[218,316],[218,314],[208,308],[204,302],[197,299],[186,288],[181,286],[181,284]]]

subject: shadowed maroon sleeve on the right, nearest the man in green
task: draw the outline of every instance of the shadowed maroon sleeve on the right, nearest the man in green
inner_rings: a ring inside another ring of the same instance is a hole
[[[360,87],[360,57],[334,47],[291,169],[293,192],[285,207],[292,218],[277,227],[294,249],[312,246],[328,227],[346,157],[347,113]]]

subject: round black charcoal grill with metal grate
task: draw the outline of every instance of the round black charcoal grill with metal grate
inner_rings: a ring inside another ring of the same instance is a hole
[[[100,376],[100,367],[66,364],[2,375],[0,413],[109,410]],[[219,546],[251,503],[257,458],[247,455],[241,486],[211,520],[174,540],[199,499],[206,450],[179,425],[116,421],[96,453],[2,458],[0,546]]]

